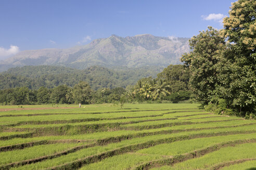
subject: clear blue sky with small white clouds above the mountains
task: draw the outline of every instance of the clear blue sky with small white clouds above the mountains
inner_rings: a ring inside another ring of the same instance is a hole
[[[0,0],[0,60],[23,50],[70,48],[112,34],[192,37],[222,29],[235,0]]]

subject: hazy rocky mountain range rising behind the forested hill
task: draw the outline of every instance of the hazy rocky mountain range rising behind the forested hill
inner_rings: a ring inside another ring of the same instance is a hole
[[[21,51],[0,61],[0,72],[25,65],[54,65],[85,69],[104,67],[144,67],[181,64],[181,55],[189,51],[189,38],[157,37],[150,34],[133,37],[112,35],[93,40],[85,46],[69,49],[40,49]]]

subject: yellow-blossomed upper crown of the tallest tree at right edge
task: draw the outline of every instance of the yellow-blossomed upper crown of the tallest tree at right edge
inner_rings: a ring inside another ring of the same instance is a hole
[[[224,33],[245,55],[251,56],[256,47],[256,2],[239,0],[232,3],[229,17],[224,18]],[[248,57],[249,57],[248,56]]]

